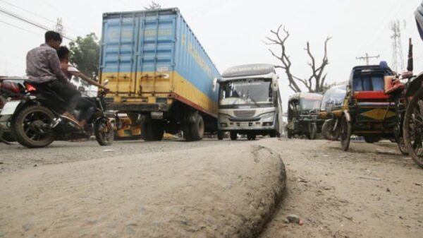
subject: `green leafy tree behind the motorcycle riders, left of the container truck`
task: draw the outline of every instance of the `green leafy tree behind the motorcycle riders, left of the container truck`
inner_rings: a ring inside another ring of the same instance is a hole
[[[100,45],[97,36],[90,33],[85,37],[77,37],[74,42],[69,43],[70,61],[86,76],[91,77],[92,73],[98,74]]]

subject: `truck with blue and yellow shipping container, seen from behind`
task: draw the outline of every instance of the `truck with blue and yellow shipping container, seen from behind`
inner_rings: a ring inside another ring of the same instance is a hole
[[[160,141],[180,130],[187,141],[217,131],[219,71],[178,8],[103,14],[100,81],[109,108]]]

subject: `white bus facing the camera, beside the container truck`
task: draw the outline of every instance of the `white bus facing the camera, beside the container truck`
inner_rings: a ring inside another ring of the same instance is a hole
[[[223,72],[219,83],[219,139],[229,131],[231,140],[239,134],[255,140],[282,133],[282,102],[278,75],[271,64],[233,66]]]

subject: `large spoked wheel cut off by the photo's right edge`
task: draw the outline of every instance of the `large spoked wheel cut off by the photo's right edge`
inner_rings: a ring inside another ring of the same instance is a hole
[[[420,88],[407,105],[403,136],[407,152],[423,168],[423,88]]]

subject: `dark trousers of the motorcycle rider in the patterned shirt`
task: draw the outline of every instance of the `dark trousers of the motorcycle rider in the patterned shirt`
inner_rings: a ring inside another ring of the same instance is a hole
[[[37,83],[37,88],[53,90],[59,98],[59,102],[63,101],[66,111],[73,113],[81,98],[80,91],[76,90],[71,83],[64,83],[58,80],[49,81],[46,83]]]

